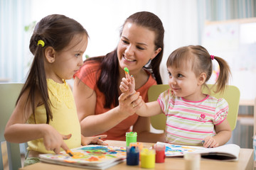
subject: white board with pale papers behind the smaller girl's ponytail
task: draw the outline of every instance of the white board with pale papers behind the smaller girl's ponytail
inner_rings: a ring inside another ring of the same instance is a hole
[[[210,55],[222,57],[230,65],[230,84],[238,86],[240,98],[251,100],[256,97],[256,18],[206,23],[202,45]],[[214,83],[219,74],[218,62],[213,62]]]

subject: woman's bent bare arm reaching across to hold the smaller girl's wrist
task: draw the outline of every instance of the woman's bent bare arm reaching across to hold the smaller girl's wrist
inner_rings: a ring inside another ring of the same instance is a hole
[[[129,115],[134,114],[132,100],[139,97],[139,94],[134,94],[127,100],[119,101],[119,106],[110,111],[95,115],[96,93],[77,77],[75,77],[73,94],[78,109],[82,135],[84,136],[93,136],[106,132],[129,117]]]

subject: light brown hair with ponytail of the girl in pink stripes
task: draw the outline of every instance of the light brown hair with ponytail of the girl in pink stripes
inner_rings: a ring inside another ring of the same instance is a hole
[[[218,62],[220,67],[220,74],[215,82],[215,93],[225,91],[226,84],[231,76],[230,67],[228,63],[220,57],[214,56],[214,59]],[[184,65],[185,64],[185,65]],[[210,79],[213,72],[213,62],[209,52],[201,45],[188,45],[186,47],[180,47],[169,55],[166,62],[167,67],[186,67],[191,64],[192,71],[199,76],[202,72],[206,73],[206,81],[203,84],[206,86],[206,82]]]

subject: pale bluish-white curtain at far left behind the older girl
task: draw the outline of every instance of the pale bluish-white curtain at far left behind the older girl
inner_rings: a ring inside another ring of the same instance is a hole
[[[22,82],[28,67],[31,0],[0,0],[0,81]]]

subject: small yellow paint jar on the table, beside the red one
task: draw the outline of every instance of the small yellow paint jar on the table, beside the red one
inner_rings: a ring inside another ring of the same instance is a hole
[[[145,169],[153,169],[156,161],[156,152],[154,149],[143,148],[140,153],[141,167]]]

